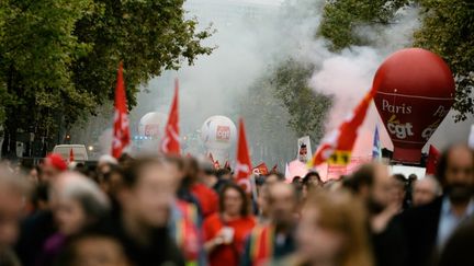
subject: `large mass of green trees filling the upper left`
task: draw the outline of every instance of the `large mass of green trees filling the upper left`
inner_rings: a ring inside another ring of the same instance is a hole
[[[211,31],[185,20],[182,0],[5,0],[0,5],[2,153],[18,132],[60,142],[64,128],[113,97],[124,61],[129,106],[140,83],[193,63]],[[1,113],[0,113],[1,114]],[[1,116],[0,116],[1,117]]]

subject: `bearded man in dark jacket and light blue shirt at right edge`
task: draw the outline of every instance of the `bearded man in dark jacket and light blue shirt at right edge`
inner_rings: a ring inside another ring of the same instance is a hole
[[[431,265],[453,231],[474,213],[474,154],[454,146],[440,158],[437,177],[443,196],[403,215],[408,265]]]

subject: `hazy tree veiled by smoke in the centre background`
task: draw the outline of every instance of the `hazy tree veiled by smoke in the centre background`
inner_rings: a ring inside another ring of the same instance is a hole
[[[313,143],[319,142],[331,99],[308,88],[313,70],[296,60],[283,60],[269,67],[239,101],[253,162],[283,166],[295,159],[297,138],[309,136]]]

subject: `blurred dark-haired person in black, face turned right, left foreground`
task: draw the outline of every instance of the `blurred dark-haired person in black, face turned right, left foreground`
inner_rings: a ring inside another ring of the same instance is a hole
[[[108,228],[135,266],[184,265],[167,228],[178,183],[163,159],[136,159],[124,170],[122,211]]]

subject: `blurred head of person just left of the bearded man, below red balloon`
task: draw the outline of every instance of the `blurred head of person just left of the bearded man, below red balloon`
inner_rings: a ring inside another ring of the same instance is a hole
[[[441,186],[435,176],[427,175],[414,182],[411,196],[414,207],[432,203],[439,196],[441,196]]]

